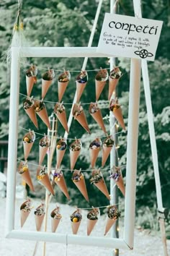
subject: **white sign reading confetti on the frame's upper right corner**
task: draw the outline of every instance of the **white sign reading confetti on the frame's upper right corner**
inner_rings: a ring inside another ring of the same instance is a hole
[[[163,22],[106,13],[97,51],[154,61]]]

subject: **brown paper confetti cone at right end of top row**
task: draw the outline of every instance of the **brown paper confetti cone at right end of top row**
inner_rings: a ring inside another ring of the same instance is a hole
[[[117,87],[117,84],[122,76],[122,72],[120,71],[119,67],[115,67],[109,74],[109,94],[108,100],[112,97],[112,93]]]

